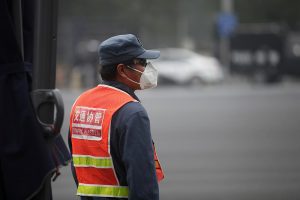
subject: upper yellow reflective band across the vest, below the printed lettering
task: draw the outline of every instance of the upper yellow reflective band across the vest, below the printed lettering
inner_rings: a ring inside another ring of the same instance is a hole
[[[73,163],[75,167],[98,167],[98,168],[111,168],[111,158],[89,157],[89,156],[74,156]]]

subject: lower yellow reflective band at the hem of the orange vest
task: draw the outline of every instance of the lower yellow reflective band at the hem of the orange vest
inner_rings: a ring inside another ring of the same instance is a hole
[[[77,195],[128,198],[128,191],[128,187],[126,186],[79,184],[77,189]]]

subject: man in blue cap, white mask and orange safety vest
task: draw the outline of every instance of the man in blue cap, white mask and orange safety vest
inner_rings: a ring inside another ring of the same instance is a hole
[[[157,200],[164,174],[150,133],[150,121],[135,90],[157,85],[157,71],[132,34],[99,46],[103,84],[76,100],[70,116],[70,149],[81,199]],[[74,171],[74,170],[73,170]]]

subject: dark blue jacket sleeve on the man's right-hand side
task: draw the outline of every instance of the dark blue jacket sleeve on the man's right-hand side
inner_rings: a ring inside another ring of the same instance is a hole
[[[120,150],[127,172],[129,200],[158,200],[150,121],[146,111],[130,115],[124,126]]]

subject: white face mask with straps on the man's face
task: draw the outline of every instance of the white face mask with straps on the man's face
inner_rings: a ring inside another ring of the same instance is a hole
[[[142,90],[148,88],[154,88],[157,86],[158,72],[157,69],[155,69],[155,67],[153,67],[153,65],[150,62],[147,63],[147,66],[143,72],[134,69],[130,66],[127,67],[142,74],[139,83],[127,77],[127,79],[130,80],[131,82],[139,84]]]

